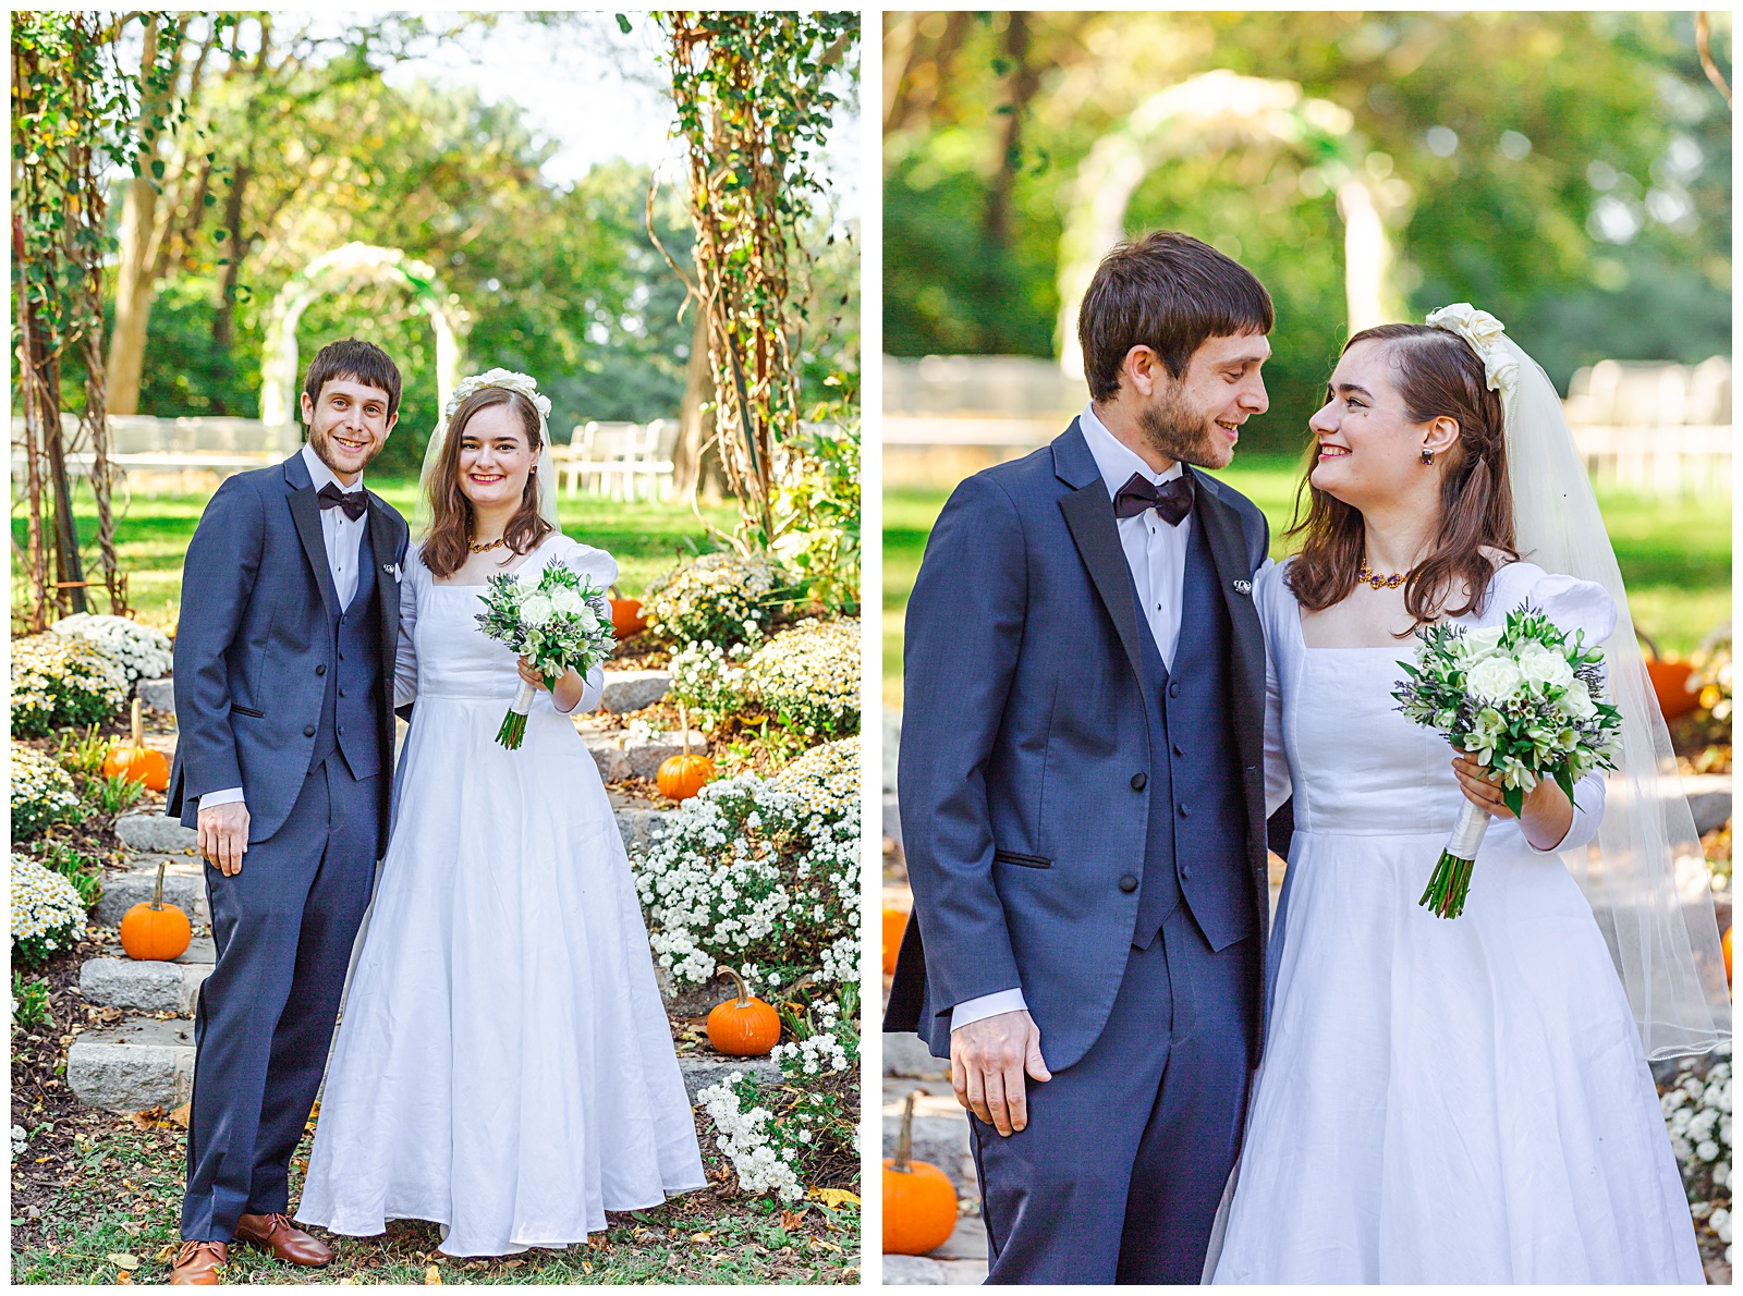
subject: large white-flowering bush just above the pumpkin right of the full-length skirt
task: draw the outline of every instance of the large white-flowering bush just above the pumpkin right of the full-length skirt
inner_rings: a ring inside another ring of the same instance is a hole
[[[770,991],[859,979],[859,793],[716,779],[634,861],[661,967],[704,984],[732,963]]]

